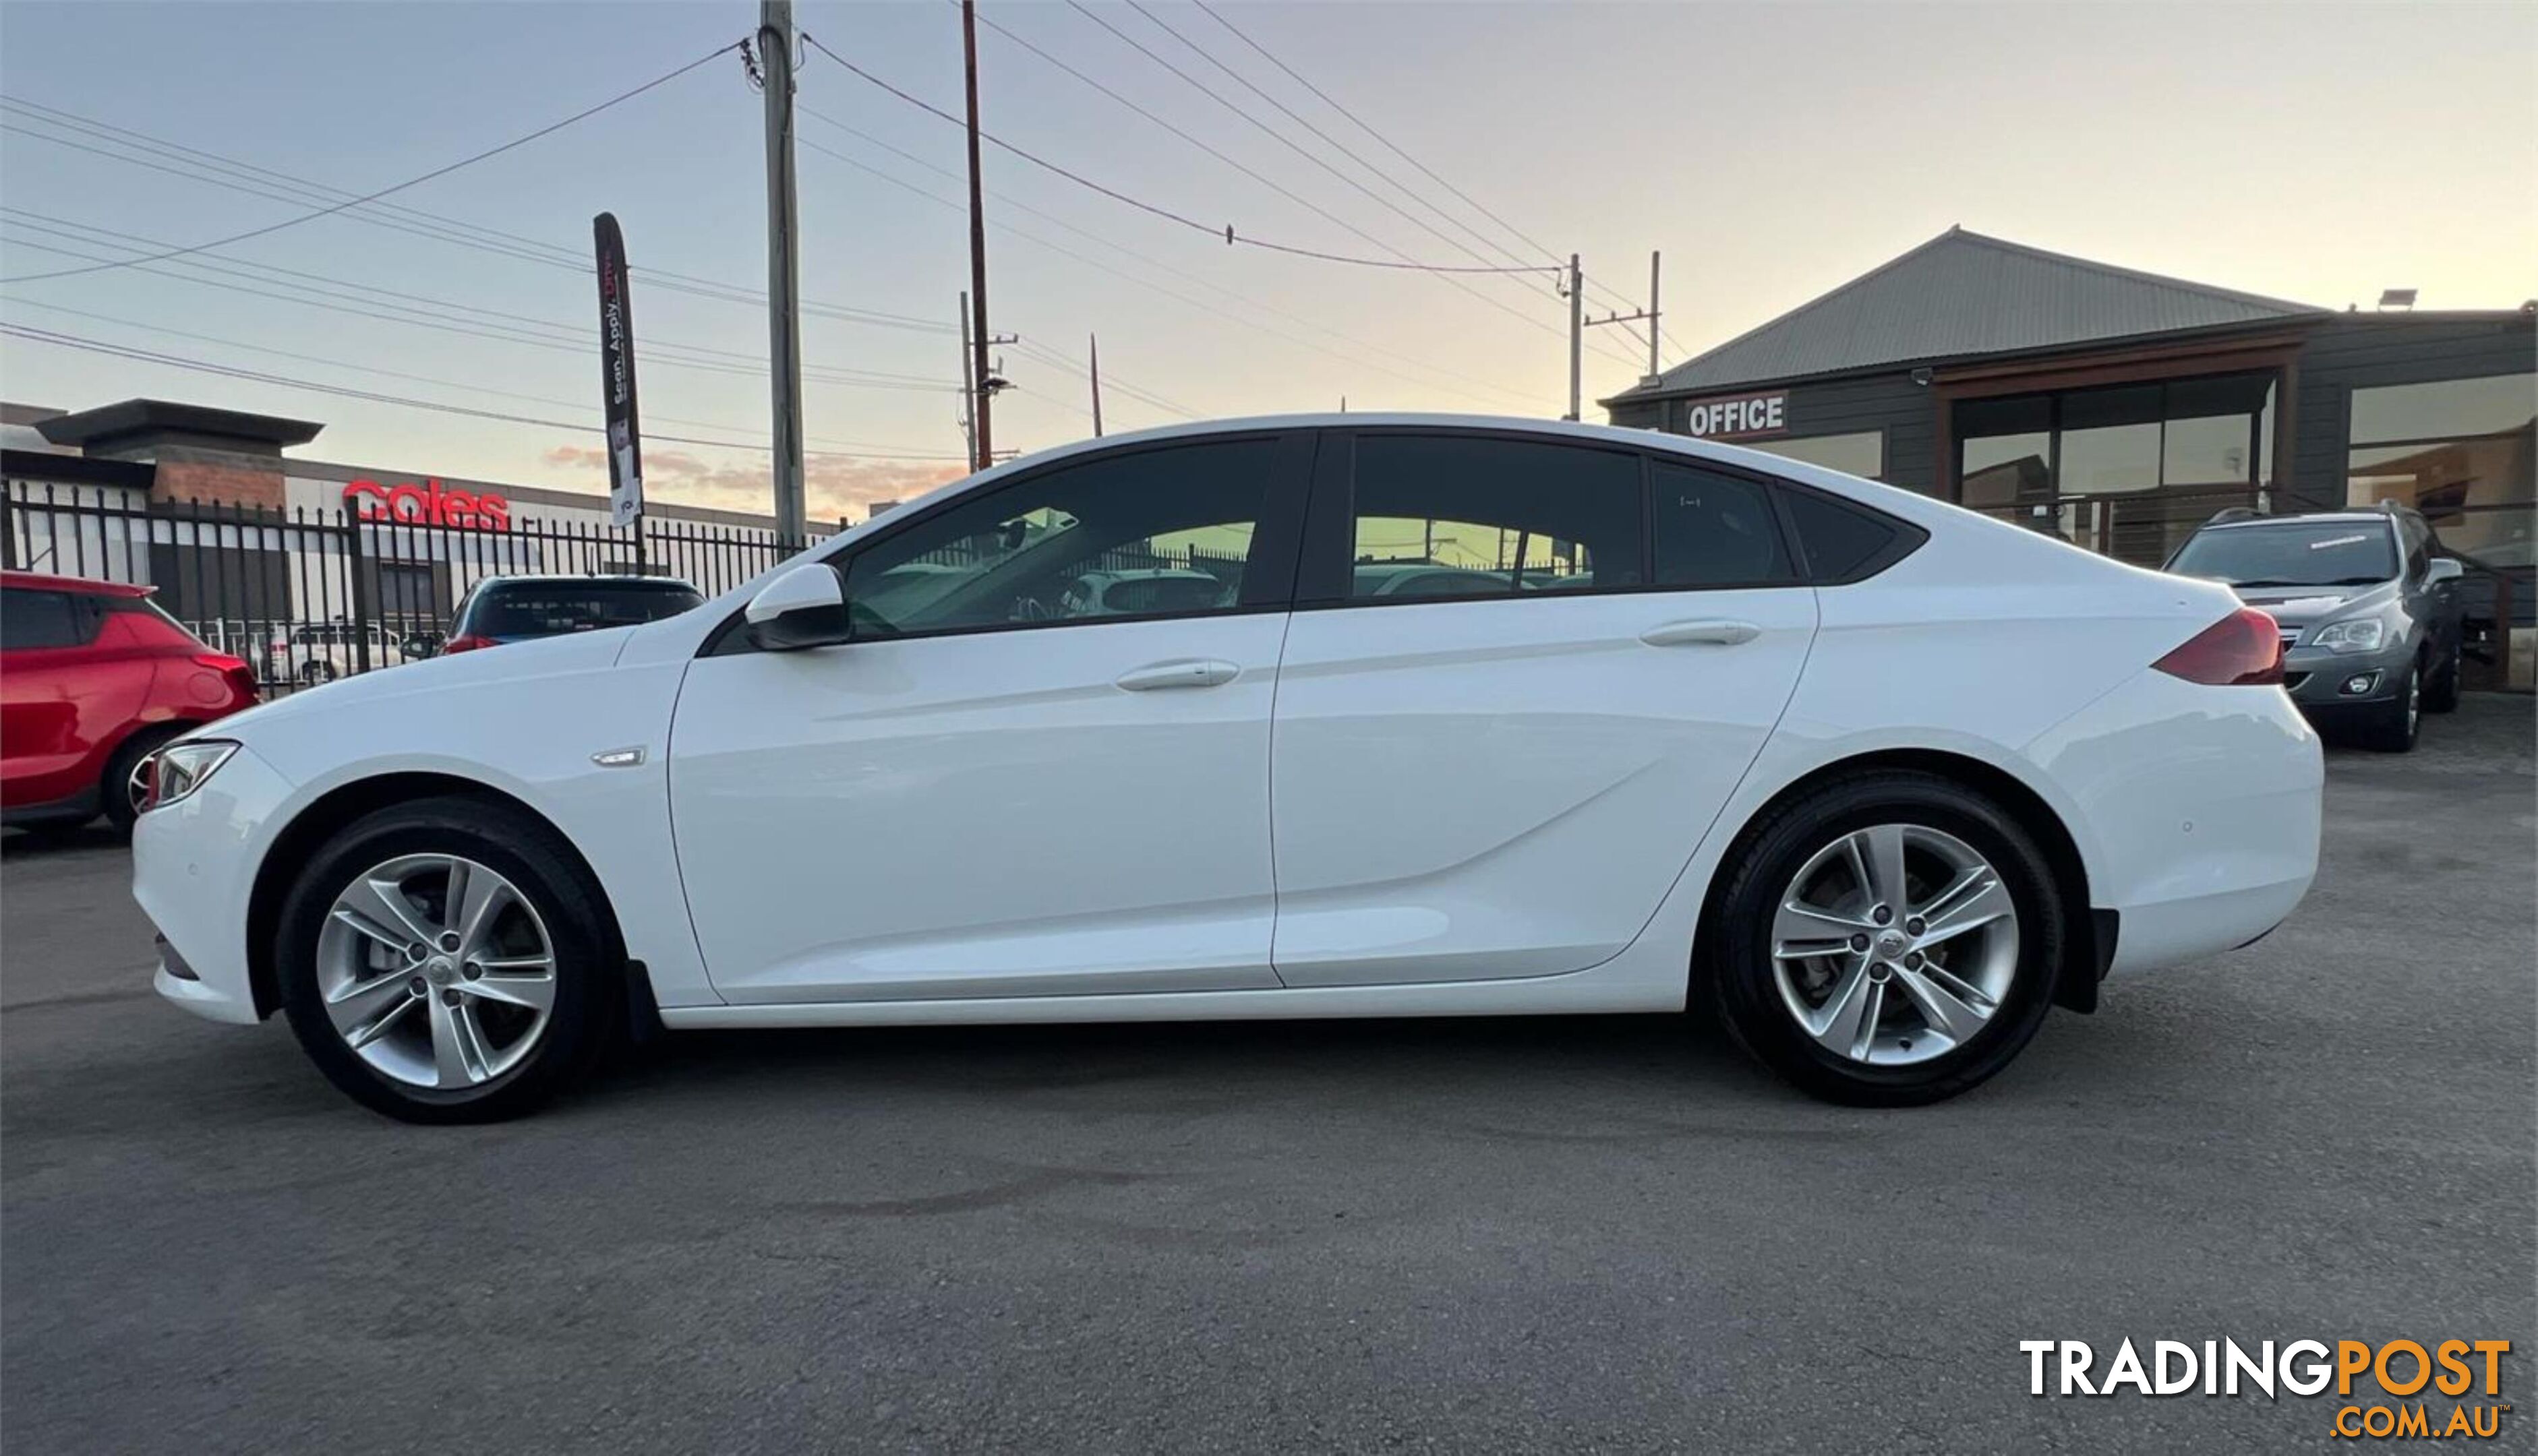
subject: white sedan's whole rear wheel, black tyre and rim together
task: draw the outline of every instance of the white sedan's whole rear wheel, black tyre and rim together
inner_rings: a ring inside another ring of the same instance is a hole
[[[1832,779],[1728,852],[1703,966],[1736,1040],[1850,1106],[1957,1096],[2053,1004],[2066,908],[2033,837],[1939,774]]]

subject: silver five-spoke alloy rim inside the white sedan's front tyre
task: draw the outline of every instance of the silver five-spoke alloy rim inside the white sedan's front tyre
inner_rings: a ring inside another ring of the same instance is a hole
[[[459,1091],[520,1065],[556,1007],[556,944],[518,885],[459,855],[353,878],[317,933],[317,997],[360,1060]]]

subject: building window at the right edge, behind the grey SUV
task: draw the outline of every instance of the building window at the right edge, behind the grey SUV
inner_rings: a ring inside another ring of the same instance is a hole
[[[2538,375],[2353,391],[2345,502],[2424,512],[2467,563],[2467,652],[2487,685],[2530,687],[2538,652]]]

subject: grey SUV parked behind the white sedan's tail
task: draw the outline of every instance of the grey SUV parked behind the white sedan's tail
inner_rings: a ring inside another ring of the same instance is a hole
[[[2414,748],[2459,705],[2459,563],[2401,505],[2317,515],[2223,510],[2167,571],[2233,588],[2282,624],[2282,685],[2320,728]]]

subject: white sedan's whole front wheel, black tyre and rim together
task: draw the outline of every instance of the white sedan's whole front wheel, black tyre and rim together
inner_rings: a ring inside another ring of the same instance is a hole
[[[282,906],[282,1007],[338,1088],[404,1121],[500,1121],[581,1083],[624,1010],[599,885],[543,822],[419,799],[338,832]]]

